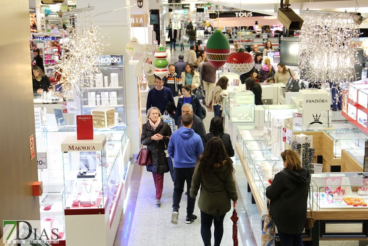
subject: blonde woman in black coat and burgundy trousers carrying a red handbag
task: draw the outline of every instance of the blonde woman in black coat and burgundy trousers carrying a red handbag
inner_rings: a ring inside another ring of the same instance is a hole
[[[147,111],[147,123],[142,126],[141,142],[150,151],[151,164],[146,166],[152,172],[156,187],[156,205],[161,206],[163,189],[163,174],[169,171],[166,162],[165,144],[168,145],[171,136],[170,126],[161,119],[161,113],[156,107]]]

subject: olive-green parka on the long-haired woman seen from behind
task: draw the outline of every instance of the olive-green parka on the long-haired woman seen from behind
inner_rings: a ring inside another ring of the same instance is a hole
[[[202,176],[198,173],[198,167],[194,170],[192,178],[192,186],[190,194],[192,198],[196,198],[199,187],[201,186],[201,194],[198,200],[199,209],[213,216],[221,216],[229,212],[231,209],[231,201],[237,201],[237,192],[235,180],[232,176],[232,170],[229,165],[223,165],[215,168],[212,173],[207,176],[207,180],[203,181]]]

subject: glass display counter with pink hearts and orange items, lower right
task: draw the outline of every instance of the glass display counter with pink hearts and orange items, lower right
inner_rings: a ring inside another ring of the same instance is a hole
[[[366,209],[368,204],[368,173],[312,174],[314,208]]]

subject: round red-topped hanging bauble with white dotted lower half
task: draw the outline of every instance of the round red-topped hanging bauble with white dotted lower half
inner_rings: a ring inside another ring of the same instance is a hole
[[[231,72],[241,75],[252,70],[254,58],[248,52],[244,52],[244,48],[237,48],[236,52],[227,57],[226,63]]]

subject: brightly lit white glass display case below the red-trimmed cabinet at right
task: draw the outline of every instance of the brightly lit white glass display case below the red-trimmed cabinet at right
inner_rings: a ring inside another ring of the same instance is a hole
[[[368,139],[364,133],[358,129],[334,130],[325,131],[325,133],[333,140],[333,156],[334,158],[341,157],[343,149],[361,149],[365,145],[365,140]]]

